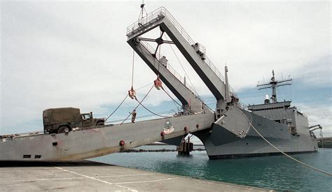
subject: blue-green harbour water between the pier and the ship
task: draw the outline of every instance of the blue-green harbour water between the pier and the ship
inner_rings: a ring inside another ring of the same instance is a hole
[[[138,149],[175,148],[144,146]],[[332,172],[332,149],[320,149],[317,153],[298,154],[293,157],[326,172]],[[177,156],[177,152],[143,152],[110,154],[93,158],[92,161],[267,189],[332,191],[332,177],[305,168],[285,156],[209,160],[205,151],[192,152],[191,156]]]

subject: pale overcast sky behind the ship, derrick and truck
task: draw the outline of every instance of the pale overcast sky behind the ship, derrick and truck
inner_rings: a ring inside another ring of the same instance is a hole
[[[329,1],[144,1],[146,11],[164,6],[204,45],[242,103],[262,103],[272,70],[293,84],[277,89],[309,124],[332,136],[331,3]],[[42,111],[75,107],[107,117],[123,100],[132,80],[132,49],[126,29],[137,21],[141,1],[1,1],[0,135],[43,129]],[[155,38],[154,32],[146,34]],[[188,75],[200,96],[215,99],[172,45],[162,45],[170,64]],[[177,60],[179,57],[179,61]],[[182,67],[181,67],[182,65]],[[184,69],[183,69],[184,68]],[[156,76],[137,55],[134,88]],[[142,98],[149,87],[137,91]],[[127,100],[111,121],[137,105]],[[176,109],[153,89],[144,105],[154,112]],[[143,108],[139,115],[148,115]]]

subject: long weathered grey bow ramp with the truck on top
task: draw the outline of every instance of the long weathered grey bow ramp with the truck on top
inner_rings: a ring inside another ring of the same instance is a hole
[[[103,156],[211,128],[212,113],[0,140],[0,161],[71,161]]]

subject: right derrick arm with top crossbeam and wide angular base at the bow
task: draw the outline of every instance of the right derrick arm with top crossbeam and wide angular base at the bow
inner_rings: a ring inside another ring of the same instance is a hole
[[[143,17],[141,20],[130,25],[130,27],[127,28],[127,43],[129,43],[136,51],[142,50],[139,40],[148,39],[141,38],[141,36],[156,27],[160,28],[162,34],[165,32],[170,36],[172,43],[179,48],[189,64],[191,64],[209,90],[212,91],[212,94],[214,94],[214,97],[217,100],[217,105],[215,112],[216,121],[214,121],[213,128],[216,130],[225,128],[237,137],[244,138],[249,130],[251,120],[246,112],[237,106],[237,101],[235,101],[237,98],[231,99],[231,95],[235,96],[235,93],[234,91],[233,93],[230,93],[227,67],[225,67],[226,79],[224,79],[223,75],[221,75],[218,69],[206,56],[205,47],[199,43],[195,43],[195,41],[193,41],[181,27],[179,22],[177,22],[177,20],[175,20],[165,8],[158,8],[146,15],[146,17]],[[164,40],[162,40],[162,37],[160,36],[160,38],[155,39],[155,41],[157,43],[159,41],[159,46]],[[148,52],[141,55],[144,57],[155,57],[155,54],[151,55],[151,53],[149,54]],[[144,57],[142,58],[146,61]],[[171,91],[177,90],[171,89]]]

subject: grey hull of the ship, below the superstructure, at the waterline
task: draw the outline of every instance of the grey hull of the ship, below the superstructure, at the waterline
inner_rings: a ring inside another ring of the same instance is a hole
[[[251,115],[252,125],[282,152],[287,154],[317,152],[317,140],[310,136],[309,127],[298,128],[298,134],[291,135],[288,126],[252,112]],[[247,136],[242,139],[230,140],[232,133],[226,130],[212,130],[210,133],[195,133],[195,135],[204,143],[210,159],[281,154],[268,142],[265,142],[253,128],[250,128]]]

